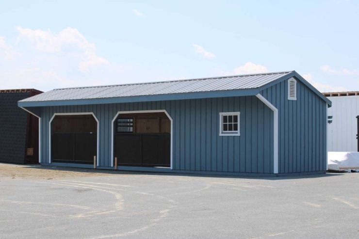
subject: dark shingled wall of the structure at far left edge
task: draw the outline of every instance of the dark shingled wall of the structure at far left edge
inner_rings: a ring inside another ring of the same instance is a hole
[[[0,162],[25,163],[28,113],[17,107],[17,101],[30,93],[0,94]]]

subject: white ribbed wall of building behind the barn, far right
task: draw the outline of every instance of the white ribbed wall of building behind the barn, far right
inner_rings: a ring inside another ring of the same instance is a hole
[[[333,123],[328,125],[328,151],[356,152],[357,115],[359,115],[359,96],[328,97],[332,107],[328,115],[333,116]]]

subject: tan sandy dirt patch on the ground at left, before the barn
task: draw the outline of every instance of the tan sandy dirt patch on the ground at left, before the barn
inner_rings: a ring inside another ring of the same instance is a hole
[[[0,178],[58,179],[64,177],[110,176],[109,170],[77,169],[43,165],[17,165],[0,163]]]

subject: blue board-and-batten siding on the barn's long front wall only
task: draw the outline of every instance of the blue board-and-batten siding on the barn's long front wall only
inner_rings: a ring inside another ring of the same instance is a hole
[[[111,122],[119,111],[166,110],[173,119],[173,169],[273,173],[273,112],[256,96],[41,108],[41,162],[49,163],[54,113],[94,112],[99,166],[111,167]],[[241,112],[240,136],[219,136],[219,113]]]

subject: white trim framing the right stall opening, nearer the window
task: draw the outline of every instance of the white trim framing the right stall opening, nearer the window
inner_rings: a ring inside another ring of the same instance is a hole
[[[114,121],[116,120],[119,114],[131,114],[131,113],[156,113],[163,112],[167,115],[168,119],[171,121],[171,146],[170,146],[170,162],[171,169],[173,169],[173,120],[169,113],[166,110],[148,110],[148,111],[119,111],[116,113],[111,122],[111,167],[114,167]],[[119,169],[119,168],[118,168]]]

